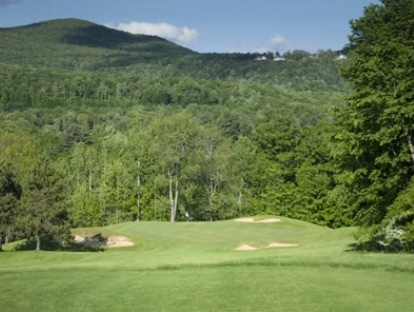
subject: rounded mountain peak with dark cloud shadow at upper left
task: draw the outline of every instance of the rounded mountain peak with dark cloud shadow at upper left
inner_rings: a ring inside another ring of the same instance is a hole
[[[99,69],[196,53],[156,36],[132,35],[78,19],[0,28],[0,62]]]

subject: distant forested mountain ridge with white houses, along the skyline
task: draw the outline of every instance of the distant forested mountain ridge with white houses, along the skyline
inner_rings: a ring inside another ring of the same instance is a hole
[[[165,39],[132,35],[78,19],[59,19],[0,29],[0,63],[109,72],[111,75],[241,79],[318,91],[344,91],[337,52],[202,54]],[[263,58],[265,61],[263,61]],[[262,59],[262,61],[257,61]]]

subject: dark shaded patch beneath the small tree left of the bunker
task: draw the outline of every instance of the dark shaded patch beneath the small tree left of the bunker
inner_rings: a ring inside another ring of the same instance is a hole
[[[36,250],[36,240],[28,239],[18,244],[14,251],[32,251]],[[42,237],[40,250],[42,251],[69,251],[69,252],[104,252],[105,248],[102,246],[88,245],[79,242],[65,242],[61,243],[51,237]]]

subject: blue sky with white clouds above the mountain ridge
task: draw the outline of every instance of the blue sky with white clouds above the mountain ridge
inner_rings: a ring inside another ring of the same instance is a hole
[[[379,0],[0,0],[0,27],[56,18],[159,35],[198,52],[341,49]]]

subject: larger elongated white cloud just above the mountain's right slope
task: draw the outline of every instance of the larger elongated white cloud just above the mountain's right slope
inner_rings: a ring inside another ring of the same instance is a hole
[[[200,37],[200,34],[195,29],[177,27],[167,23],[131,22],[118,25],[106,24],[105,26],[132,34],[159,36],[179,44],[189,44],[197,41]]]

